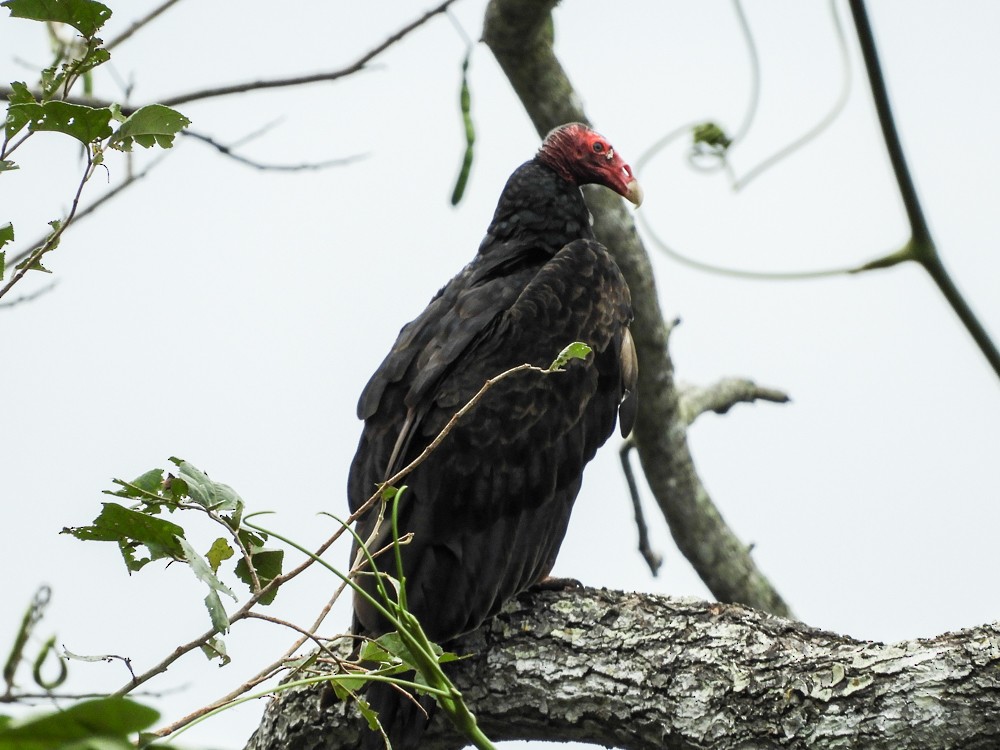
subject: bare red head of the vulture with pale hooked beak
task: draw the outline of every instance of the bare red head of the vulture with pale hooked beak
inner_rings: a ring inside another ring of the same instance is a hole
[[[549,132],[538,158],[563,178],[577,185],[596,183],[611,188],[634,203],[642,203],[642,188],[625,163],[599,133],[579,122]]]

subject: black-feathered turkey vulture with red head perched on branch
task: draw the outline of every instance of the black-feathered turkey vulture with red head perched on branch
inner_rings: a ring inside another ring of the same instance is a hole
[[[637,206],[631,168],[579,123],[548,134],[507,181],[476,257],[431,300],[369,380],[358,403],[364,429],[348,492],[356,511],[406,466],[484,384],[528,362],[548,367],[568,344],[593,353],[564,372],[521,372],[492,388],[403,481],[399,532],[410,610],[436,642],[479,627],[546,577],[566,532],[583,469],[635,418],[635,348],[628,286],[596,241],[580,186],[611,188]],[[368,539],[377,508],[358,521]],[[383,523],[369,544],[391,541]],[[356,553],[356,550],[355,550]],[[352,557],[352,560],[354,558]],[[393,556],[378,567],[395,576]],[[358,583],[374,592],[372,576]],[[354,631],[389,629],[360,597]],[[426,719],[372,685],[394,748],[419,745]],[[405,699],[402,699],[405,701]],[[367,733],[366,742],[381,745]]]

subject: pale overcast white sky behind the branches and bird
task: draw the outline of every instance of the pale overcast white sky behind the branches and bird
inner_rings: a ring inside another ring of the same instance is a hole
[[[105,38],[154,5],[112,4]],[[455,6],[474,38],[484,5]],[[873,5],[931,229],[1000,337],[1000,5]],[[145,103],[338,68],[424,4],[276,7],[181,3],[114,51],[97,90],[121,98],[118,82],[133,81],[132,100]],[[733,153],[738,172],[821,117],[840,75],[826,3],[746,10],[763,82],[755,126]],[[0,77],[30,80],[22,61],[46,63],[41,28],[0,15]],[[556,33],[590,117],[633,162],[679,124],[711,118],[733,129],[741,120],[750,81],[729,3],[568,0]],[[463,148],[463,53],[441,18],[351,79],[180,107],[193,129],[222,141],[280,118],[244,147],[262,161],[367,158],[260,173],[182,139],[145,182],[67,234],[48,263],[59,282],[52,293],[0,313],[0,647],[43,582],[54,599],[39,635],[54,631],[76,653],[128,655],[141,670],[205,629],[204,592],[186,570],[150,566],[129,579],[113,546],[57,535],[93,519],[111,477],[166,466],[168,456],[231,484],[252,509],[277,511],[276,528],[310,545],[325,538],[330,524],[316,514],[344,510],[362,386],[399,327],[472,257],[506,176],[537,146],[489,51],[477,47],[476,163],[466,200],[448,205]],[[836,124],[738,196],[721,176],[689,170],[680,147],[665,152],[639,175],[645,218],[685,253],[743,268],[842,266],[898,247],[904,217],[853,41],[851,66]],[[20,247],[68,206],[81,164],[73,142],[56,134],[33,138],[18,157],[21,171],[0,178],[0,223],[13,221]],[[124,160],[109,169],[112,182],[121,179]],[[756,545],[798,616],[878,640],[995,620],[1000,389],[929,279],[905,267],[748,283],[651,252],[662,306],[684,321],[672,340],[679,377],[745,375],[794,399],[703,417],[690,438],[722,513]],[[21,290],[48,280],[38,275]],[[652,541],[666,558],[659,578],[634,551],[616,447],[613,439],[588,470],[554,572],[707,596],[651,502]],[[275,611],[311,620],[333,586],[312,575],[283,590]],[[347,621],[341,608],[326,630]],[[260,623],[239,626],[228,639],[231,666],[192,655],[154,685],[173,691],[156,703],[173,720],[228,692],[288,640]],[[71,671],[78,690],[127,678],[117,664]],[[262,708],[206,722],[183,744],[242,747]]]

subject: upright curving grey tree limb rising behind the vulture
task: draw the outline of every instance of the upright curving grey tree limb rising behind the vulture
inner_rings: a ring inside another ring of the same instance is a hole
[[[554,0],[492,0],[483,40],[489,45],[540,135],[556,125],[586,122],[580,99],[552,51]],[[632,335],[639,355],[642,407],[634,437],[650,488],[678,547],[721,601],[787,615],[788,605],[758,570],[712,503],[694,468],[667,349],[653,272],[621,199],[587,192],[598,238],[614,254],[632,290]]]

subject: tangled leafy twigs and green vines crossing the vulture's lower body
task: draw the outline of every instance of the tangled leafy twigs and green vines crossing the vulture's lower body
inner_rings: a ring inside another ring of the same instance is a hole
[[[153,739],[176,734],[215,712],[236,705],[246,700],[248,695],[264,682],[282,673],[288,673],[292,676],[304,674],[307,677],[305,680],[286,681],[277,688],[266,690],[263,694],[307,684],[309,681],[325,681],[342,699],[357,700],[362,713],[368,717],[371,726],[379,729],[378,717],[367,707],[357,691],[366,682],[393,682],[401,688],[417,690],[435,696],[445,713],[452,718],[456,727],[465,733],[477,747],[484,750],[492,748],[489,740],[478,729],[475,717],[465,706],[461,693],[441,669],[441,664],[457,657],[444,653],[437,644],[432,643],[423,632],[419,622],[407,609],[406,576],[402,569],[400,545],[406,544],[410,536],[400,535],[396,512],[401,500],[405,500],[406,490],[405,487],[396,490],[395,487],[391,486],[391,483],[398,483],[419,466],[447,438],[459,420],[465,417],[491,388],[504,379],[525,371],[541,375],[559,373],[572,360],[585,359],[590,352],[589,346],[575,342],[563,349],[548,367],[523,364],[487,380],[469,401],[452,416],[419,456],[393,477],[390,477],[387,483],[380,486],[369,501],[350,518],[343,522],[338,521],[337,531],[315,550],[309,550],[288,537],[252,523],[250,521],[252,515],[246,513],[245,504],[235,490],[226,484],[211,480],[207,474],[182,459],[170,459],[175,467],[170,472],[163,469],[152,469],[131,481],[113,480],[115,487],[106,490],[105,494],[128,500],[132,503],[131,507],[113,501],[105,502],[93,523],[88,526],[65,528],[63,533],[83,541],[115,543],[130,573],[138,572],[149,563],[157,560],[185,563],[208,587],[205,604],[211,628],[197,638],[174,648],[164,659],[140,674],[135,674],[132,671],[131,660],[125,657],[82,657],[70,654],[65,650],[63,656],[77,661],[107,661],[111,658],[125,661],[129,666],[131,679],[109,698],[109,700],[123,700],[124,696],[134,692],[156,675],[167,671],[175,661],[191,651],[200,649],[210,659],[218,659],[222,665],[227,664],[229,658],[226,655],[225,643],[221,636],[240,620],[256,619],[287,628],[296,633],[298,638],[280,658],[264,667],[254,677],[244,681],[228,695],[152,734],[144,735],[146,739],[143,740],[141,746],[145,746]],[[376,502],[392,503],[393,537],[392,542],[385,548],[371,551],[364,544],[364,540],[357,537],[351,524],[368,512]],[[173,520],[176,518],[176,514],[182,512],[196,512],[204,515],[213,524],[224,529],[224,536],[217,538],[211,544],[208,552],[199,553],[188,541],[185,528]],[[168,520],[163,517],[164,515],[170,515],[173,518]],[[325,552],[345,532],[354,537],[361,549],[358,563],[347,573],[341,572],[323,559]],[[305,561],[292,570],[282,572],[284,553],[282,550],[265,548],[269,539],[279,540],[288,547],[299,551],[305,555]],[[358,596],[369,596],[355,583],[354,578],[358,575],[370,575],[365,571],[376,570],[375,558],[389,553],[395,556],[396,575],[377,574],[379,599],[372,600],[371,603],[392,623],[395,631],[378,639],[366,641],[355,655],[355,659],[342,658],[331,648],[330,644],[339,638],[348,638],[349,636],[324,639],[317,634],[318,630],[345,588],[351,587]],[[231,558],[236,558],[237,562],[233,572],[249,587],[250,596],[237,610],[227,613],[222,607],[219,594],[227,593],[234,597],[235,595],[222,582],[219,574],[222,563]],[[339,577],[342,585],[323,606],[311,626],[302,627],[256,610],[258,604],[270,604],[281,586],[316,563]],[[4,700],[8,702],[21,700],[27,695],[16,688],[15,675],[20,664],[25,661],[24,651],[28,638],[41,619],[47,598],[48,594],[45,592],[42,599],[34,602],[29,608],[20,635],[7,660],[4,668],[4,679],[7,684]],[[308,657],[296,658],[295,655],[299,649],[309,642],[315,644],[318,651]],[[47,689],[52,697],[56,697],[51,691],[61,684],[65,678],[65,670],[63,668],[63,673],[56,682],[44,684],[38,677],[37,665],[49,653],[54,653],[54,643],[54,638],[50,639],[35,660],[35,682]],[[372,663],[375,664],[374,668],[363,666]],[[416,670],[420,675],[416,681],[408,679],[404,674],[413,670]],[[70,696],[63,697],[69,698]],[[99,708],[100,710],[121,710],[129,713],[132,710],[131,705],[138,704],[100,704]],[[113,706],[117,706],[117,708],[113,708]],[[146,725],[144,724],[144,726]],[[3,727],[0,726],[0,747],[3,747],[3,731]],[[27,730],[19,728],[17,731]]]

